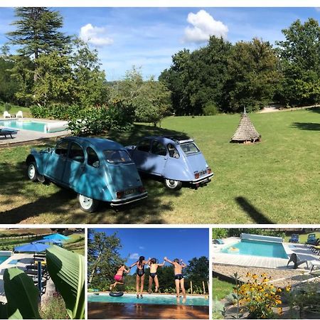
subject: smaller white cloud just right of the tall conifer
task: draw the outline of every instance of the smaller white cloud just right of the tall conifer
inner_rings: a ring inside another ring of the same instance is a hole
[[[87,23],[80,28],[80,39],[91,43],[95,46],[109,46],[113,43],[113,39],[106,36],[106,28],[92,26],[91,23]]]

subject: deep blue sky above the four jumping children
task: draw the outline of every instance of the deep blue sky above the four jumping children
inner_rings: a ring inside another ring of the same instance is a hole
[[[205,228],[109,228],[95,229],[112,235],[117,232],[121,239],[121,257],[132,265],[143,255],[146,259],[156,257],[159,263],[164,257],[182,259],[188,263],[193,257],[209,257],[209,233]],[[135,268],[131,273],[134,273]]]

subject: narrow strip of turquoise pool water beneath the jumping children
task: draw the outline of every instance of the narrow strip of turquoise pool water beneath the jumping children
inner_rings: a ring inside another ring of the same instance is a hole
[[[165,294],[144,294],[143,299],[137,299],[136,294],[124,294],[122,297],[110,297],[109,294],[88,294],[88,302],[114,302],[124,304],[177,304],[176,296]],[[180,303],[182,297],[180,298]],[[182,304],[182,303],[181,303]],[[209,299],[205,297],[186,297],[187,306],[208,306]]]

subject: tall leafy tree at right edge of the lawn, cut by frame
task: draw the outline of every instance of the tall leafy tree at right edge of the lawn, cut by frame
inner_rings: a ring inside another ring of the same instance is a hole
[[[288,105],[320,102],[320,26],[314,18],[299,19],[283,29],[284,41],[278,41],[283,73],[277,97]]]

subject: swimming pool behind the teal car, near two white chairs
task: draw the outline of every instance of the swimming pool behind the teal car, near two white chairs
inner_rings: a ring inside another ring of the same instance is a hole
[[[41,122],[26,119],[0,120],[0,126],[36,132],[59,132],[67,129],[67,122]]]

